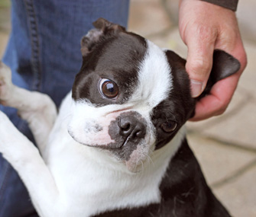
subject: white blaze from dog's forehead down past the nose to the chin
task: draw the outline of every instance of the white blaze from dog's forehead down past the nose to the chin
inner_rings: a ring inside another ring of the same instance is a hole
[[[138,72],[138,86],[131,97],[130,103],[134,104],[134,110],[140,113],[149,126],[148,141],[155,142],[154,126],[151,123],[151,112],[161,101],[164,101],[172,88],[172,76],[170,65],[164,51],[151,41],[147,40],[147,53],[141,62]],[[148,135],[147,134],[147,135]],[[154,151],[154,144],[138,145],[131,153],[131,158],[126,161],[129,171],[141,171],[144,161],[150,159]]]

